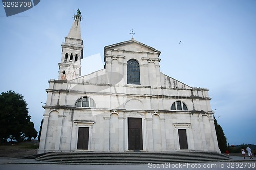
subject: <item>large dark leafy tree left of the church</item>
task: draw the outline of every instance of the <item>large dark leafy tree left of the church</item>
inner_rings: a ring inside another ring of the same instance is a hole
[[[0,94],[0,139],[5,142],[8,138],[21,142],[25,139],[36,138],[37,131],[28,115],[27,103],[23,96],[14,91]]]

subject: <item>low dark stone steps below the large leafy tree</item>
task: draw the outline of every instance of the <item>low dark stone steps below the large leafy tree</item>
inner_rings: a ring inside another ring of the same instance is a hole
[[[36,154],[37,149],[0,147],[0,157],[24,158]]]

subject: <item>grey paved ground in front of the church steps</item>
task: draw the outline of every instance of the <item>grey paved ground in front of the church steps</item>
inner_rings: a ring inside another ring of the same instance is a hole
[[[256,158],[250,159],[246,157],[230,156],[231,160],[228,162],[209,162],[209,163],[180,163],[180,164],[146,164],[146,165],[67,165],[56,164],[54,162],[36,161],[34,159],[18,159],[0,157],[0,170],[22,170],[22,169],[54,169],[54,170],[70,170],[70,169],[256,169]]]

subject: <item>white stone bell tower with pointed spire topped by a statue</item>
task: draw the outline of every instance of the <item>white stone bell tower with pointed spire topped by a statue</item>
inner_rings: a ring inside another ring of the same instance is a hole
[[[58,80],[72,80],[81,76],[81,59],[83,58],[83,40],[81,38],[81,12],[78,9],[74,22],[65,42],[62,43],[62,57],[59,63]]]

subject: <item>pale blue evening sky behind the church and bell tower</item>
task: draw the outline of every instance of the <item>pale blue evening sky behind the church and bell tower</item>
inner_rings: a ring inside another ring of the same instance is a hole
[[[249,0],[41,1],[10,17],[1,6],[0,91],[24,96],[38,132],[45,89],[58,79],[61,44],[78,8],[84,58],[103,61],[104,46],[130,40],[133,28],[135,40],[161,51],[161,72],[209,89],[230,145],[256,144],[256,1]]]

